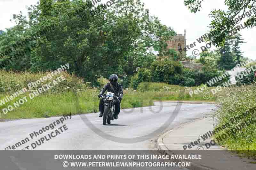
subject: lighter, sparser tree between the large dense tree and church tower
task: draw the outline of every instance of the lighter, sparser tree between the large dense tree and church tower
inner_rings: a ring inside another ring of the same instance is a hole
[[[175,35],[174,31],[162,25],[157,17],[149,16],[149,11],[144,9],[144,5],[140,0],[118,0],[115,4],[114,11],[118,15],[138,18],[138,26],[135,29],[136,41],[124,55],[124,73],[119,75],[120,77],[132,76],[139,68],[148,68],[156,60],[155,51],[160,55],[168,53],[165,41]]]

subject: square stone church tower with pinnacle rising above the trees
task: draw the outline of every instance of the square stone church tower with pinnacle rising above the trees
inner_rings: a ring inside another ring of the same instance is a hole
[[[184,30],[184,35],[178,34],[173,37],[172,40],[166,42],[168,44],[168,49],[175,49],[177,52],[184,51],[186,47],[186,29]]]

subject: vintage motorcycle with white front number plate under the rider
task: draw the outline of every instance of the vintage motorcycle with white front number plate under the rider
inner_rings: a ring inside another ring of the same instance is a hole
[[[115,100],[120,100],[117,96],[112,92],[107,92],[107,94],[102,95],[99,99],[104,99],[104,112],[103,112],[103,125],[106,123],[110,124],[111,121],[114,120],[114,112],[115,112]]]

